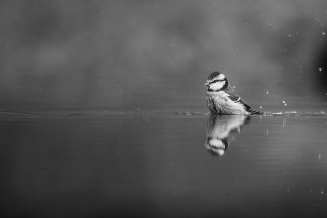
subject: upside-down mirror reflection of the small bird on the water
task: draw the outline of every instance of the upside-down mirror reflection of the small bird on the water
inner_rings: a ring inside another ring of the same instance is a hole
[[[206,149],[214,156],[222,156],[235,140],[241,127],[250,123],[250,116],[211,114],[208,119]]]

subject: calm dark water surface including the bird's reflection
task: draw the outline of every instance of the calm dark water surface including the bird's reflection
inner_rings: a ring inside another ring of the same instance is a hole
[[[12,217],[327,217],[327,116],[1,113]]]

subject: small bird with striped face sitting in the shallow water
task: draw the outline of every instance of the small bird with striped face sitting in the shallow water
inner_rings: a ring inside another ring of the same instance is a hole
[[[207,103],[211,113],[216,114],[263,114],[252,109],[229,85],[225,75],[220,72],[211,73],[207,82]]]

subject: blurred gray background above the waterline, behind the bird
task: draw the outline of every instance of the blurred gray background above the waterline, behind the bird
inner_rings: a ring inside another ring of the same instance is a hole
[[[325,0],[1,1],[0,110],[208,112],[212,71],[253,108],[323,110],[326,21]]]

